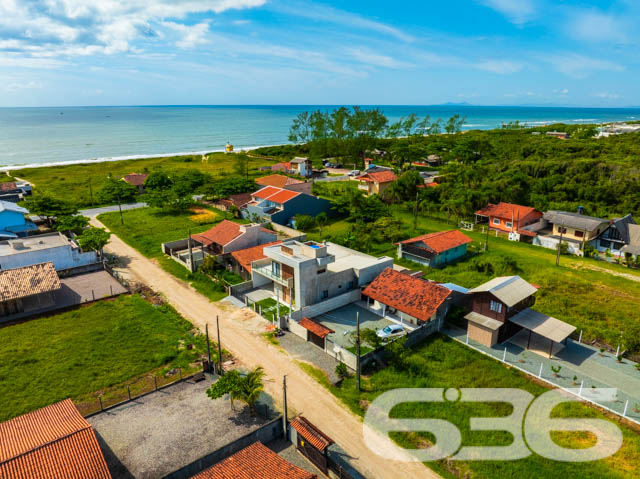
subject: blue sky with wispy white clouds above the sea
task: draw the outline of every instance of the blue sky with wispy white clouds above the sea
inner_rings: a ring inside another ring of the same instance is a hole
[[[0,0],[0,106],[638,106],[637,0]]]

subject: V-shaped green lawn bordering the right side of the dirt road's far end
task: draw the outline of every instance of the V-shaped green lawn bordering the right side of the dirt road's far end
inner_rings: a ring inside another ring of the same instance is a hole
[[[167,272],[191,284],[211,301],[219,301],[226,289],[204,273],[190,273],[187,268],[162,253],[161,244],[201,233],[222,221],[224,213],[216,209],[192,208],[184,213],[164,213],[153,208],[138,208],[120,213],[104,213],[98,219],[125,243],[152,258]]]

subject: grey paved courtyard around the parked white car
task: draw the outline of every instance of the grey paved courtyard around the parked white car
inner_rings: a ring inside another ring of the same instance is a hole
[[[389,324],[395,324],[354,303],[316,316],[313,320],[335,331],[327,336],[330,341],[343,348],[349,348],[353,346],[349,341],[349,333],[356,330],[356,313],[360,314],[360,330],[368,328],[377,331]]]

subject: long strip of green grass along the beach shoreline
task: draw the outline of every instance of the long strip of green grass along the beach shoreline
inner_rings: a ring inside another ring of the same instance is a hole
[[[23,168],[12,174],[33,183],[36,191],[61,196],[82,207],[97,206],[96,192],[100,190],[111,173],[121,177],[128,173],[149,173],[162,169],[166,173],[184,173],[197,169],[212,176],[221,176],[233,171],[235,155],[212,153],[209,160],[203,162],[200,155],[145,158],[138,160],[106,161],[101,163],[82,163],[73,165],[50,166],[45,168]],[[257,173],[259,166],[271,165],[264,159],[250,160],[250,174]],[[93,192],[93,200],[91,198]]]

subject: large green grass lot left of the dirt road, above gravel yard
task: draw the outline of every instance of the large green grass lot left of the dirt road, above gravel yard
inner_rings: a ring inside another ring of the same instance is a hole
[[[0,327],[0,421],[67,397],[95,401],[91,393],[150,372],[189,372],[206,351],[192,328],[138,295]]]

